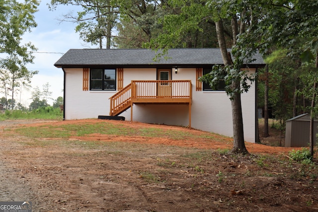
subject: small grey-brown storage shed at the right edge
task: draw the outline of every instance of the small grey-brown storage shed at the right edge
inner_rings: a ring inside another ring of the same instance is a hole
[[[318,120],[314,120],[314,135],[316,144],[316,135],[318,133]],[[310,114],[302,114],[286,121],[286,147],[304,147],[309,146]]]

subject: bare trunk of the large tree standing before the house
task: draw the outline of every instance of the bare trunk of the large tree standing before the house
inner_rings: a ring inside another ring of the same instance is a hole
[[[215,22],[218,42],[220,46],[220,51],[222,54],[223,62],[225,66],[231,66],[232,61],[229,57],[227,48],[226,48],[226,40],[224,35],[224,28],[222,19]],[[241,108],[241,99],[240,99],[240,79],[236,79],[232,83],[232,89],[237,88],[237,92],[231,98],[232,105],[232,121],[233,121],[233,149],[232,153],[248,153],[244,143],[244,132],[243,132],[243,117],[242,117],[242,108]]]

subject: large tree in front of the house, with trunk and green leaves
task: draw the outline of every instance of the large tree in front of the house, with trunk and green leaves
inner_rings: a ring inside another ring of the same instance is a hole
[[[252,56],[257,47],[239,42],[241,34],[248,32],[257,24],[251,5],[245,1],[233,0],[171,0],[172,6],[181,8],[180,14],[164,16],[163,33],[157,39],[151,40],[147,45],[153,49],[175,47],[175,41],[182,40],[183,34],[188,32],[203,31],[202,22],[213,24],[216,29],[216,38],[222,54],[223,66],[214,66],[209,74],[202,77],[212,87],[217,87],[219,82],[225,81],[226,92],[232,104],[233,118],[233,153],[248,153],[244,143],[243,118],[240,95],[248,91],[255,75],[249,74],[244,64],[252,62]],[[184,44],[186,46],[186,44]],[[214,47],[214,46],[212,46]],[[232,48],[231,51],[228,48]]]

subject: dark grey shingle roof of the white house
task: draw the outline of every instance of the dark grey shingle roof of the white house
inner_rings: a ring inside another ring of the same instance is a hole
[[[219,48],[169,49],[158,62],[153,59],[156,52],[151,49],[70,49],[55,64],[56,67],[84,66],[195,66],[223,64]],[[256,55],[252,65],[263,65]]]

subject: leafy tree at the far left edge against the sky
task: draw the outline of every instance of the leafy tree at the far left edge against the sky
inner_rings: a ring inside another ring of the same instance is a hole
[[[32,51],[36,48],[31,43],[22,43],[24,33],[36,27],[34,13],[37,11],[37,0],[2,0],[0,2],[0,82],[5,94],[9,87],[12,92],[21,83],[30,83],[30,78],[35,72],[28,71],[27,63],[32,63],[34,57]],[[4,78],[7,80],[2,80]],[[12,104],[13,109],[13,104]]]

